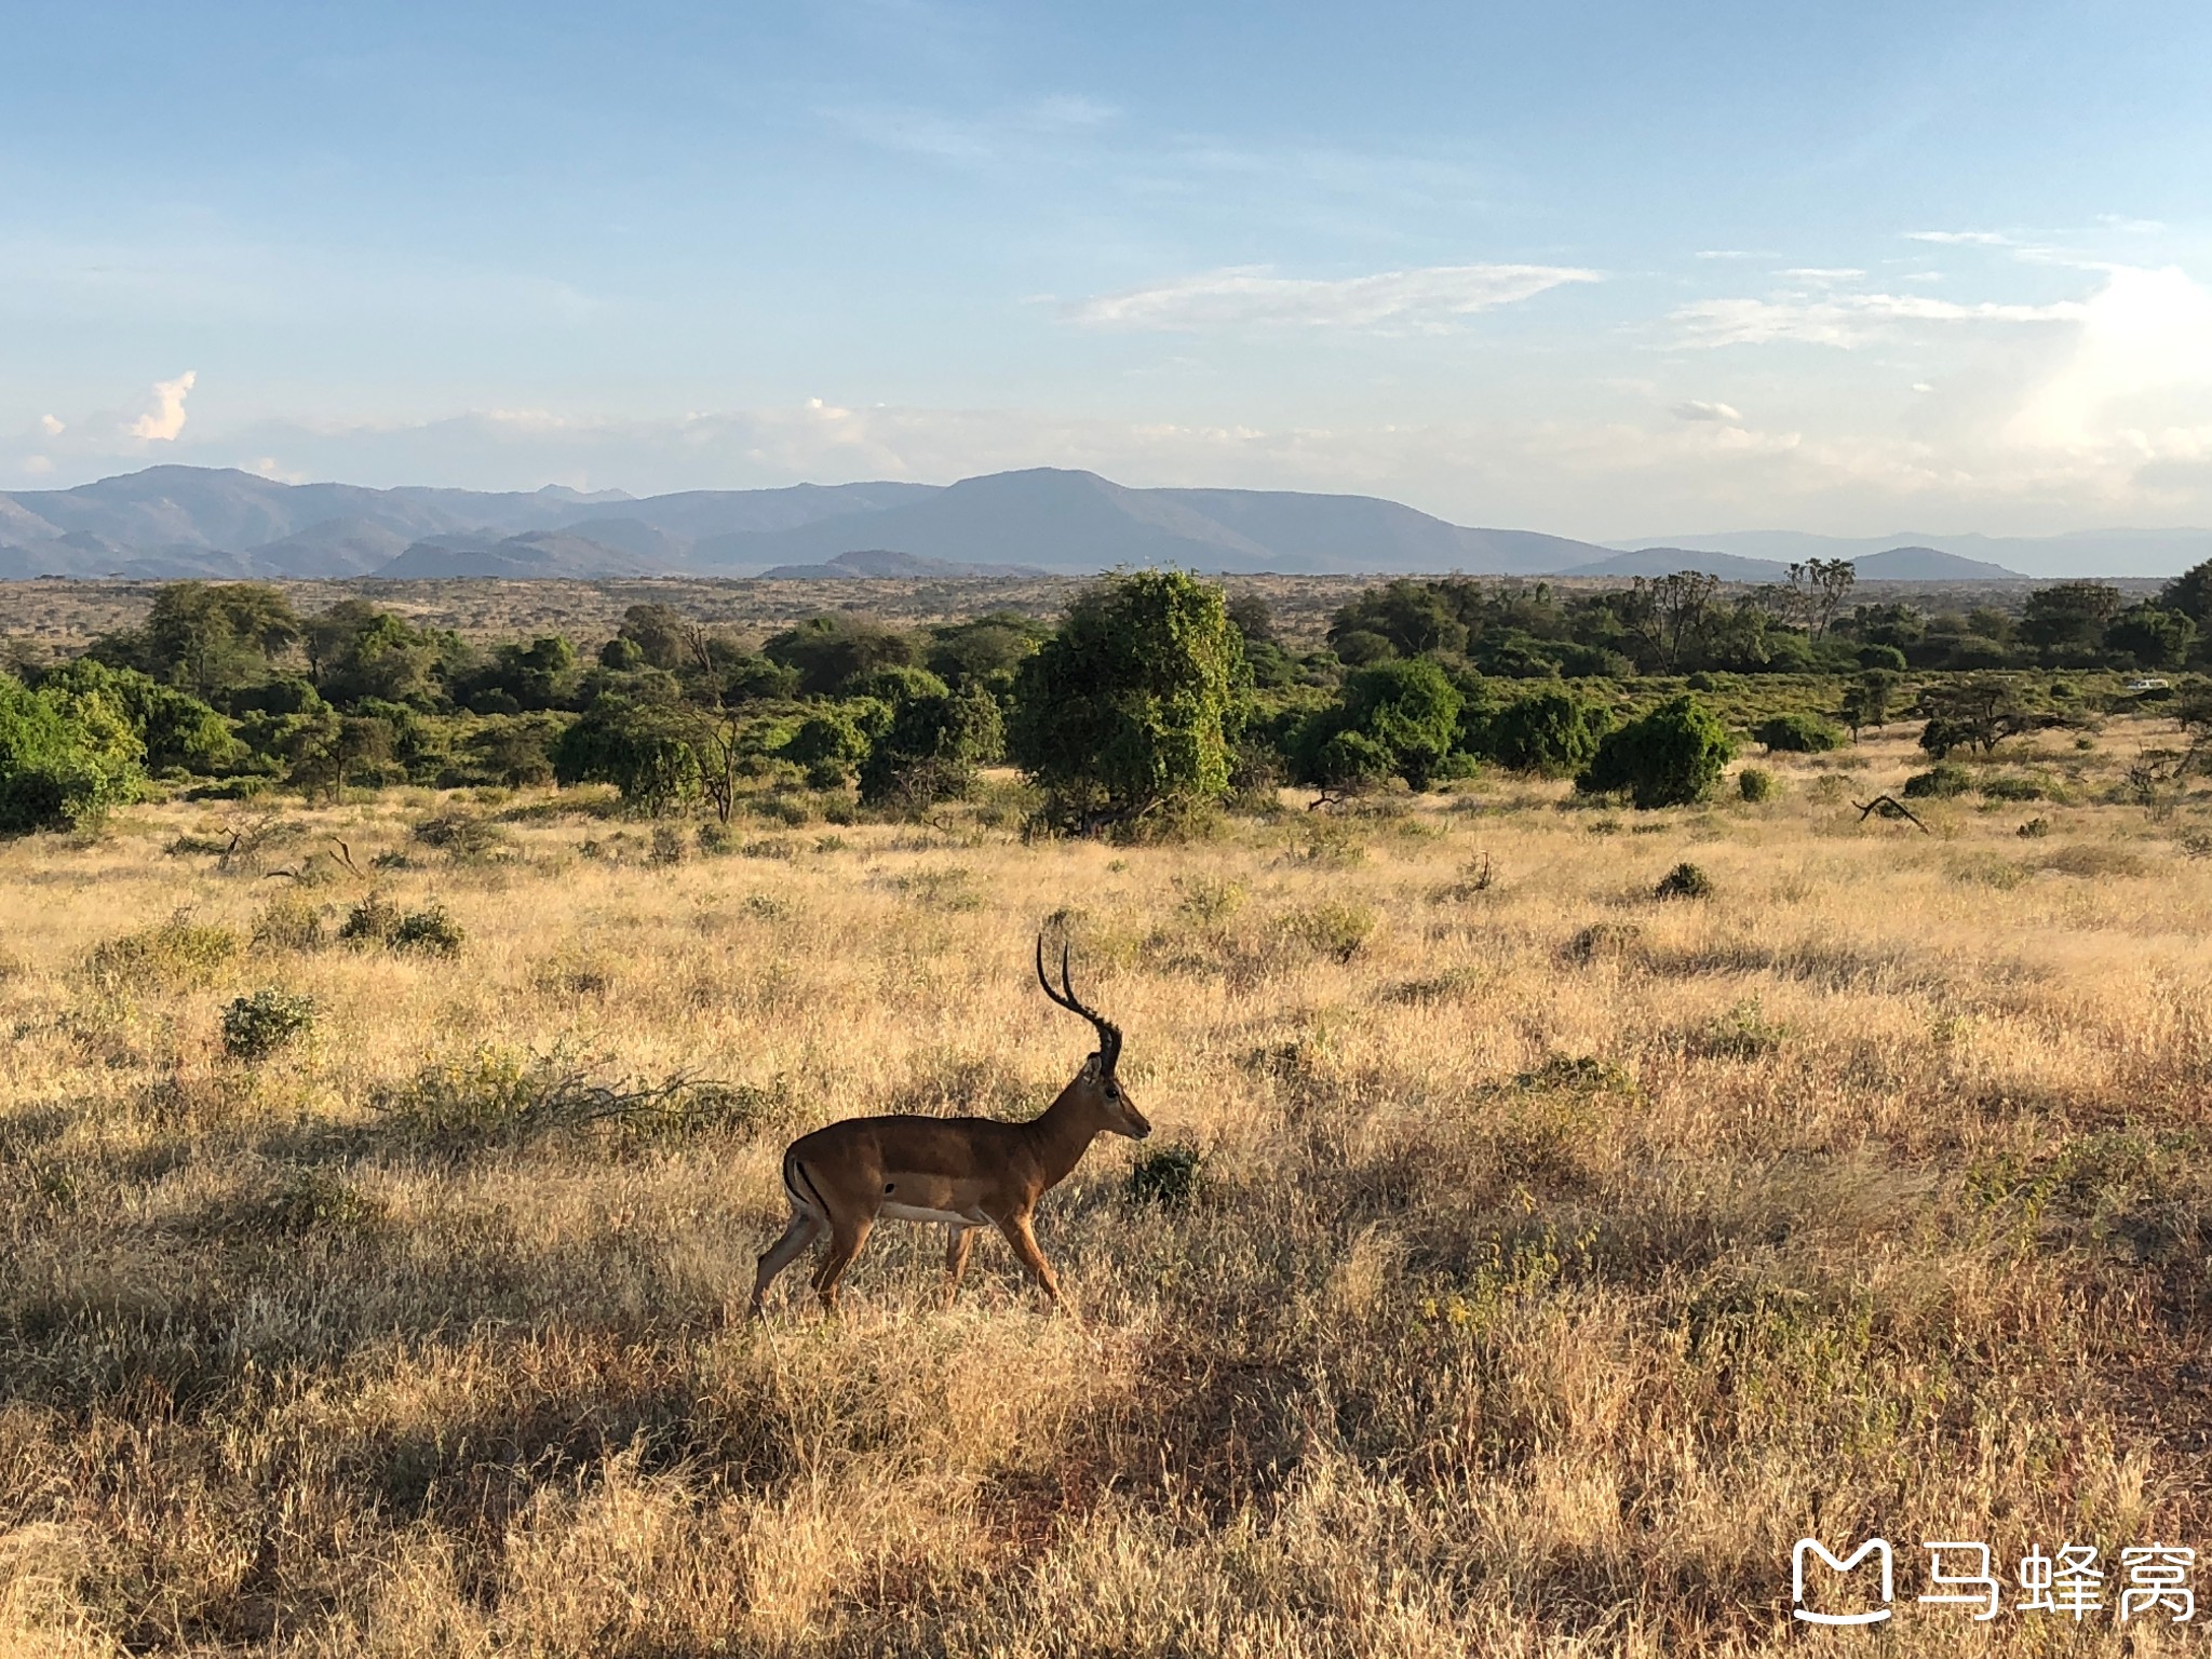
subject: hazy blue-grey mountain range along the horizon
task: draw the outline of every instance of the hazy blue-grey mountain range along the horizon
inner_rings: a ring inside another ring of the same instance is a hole
[[[2000,564],[1993,555],[2004,555]],[[148,467],[0,495],[0,580],[1079,575],[1117,564],[1208,573],[1663,575],[1772,582],[1787,560],[1851,557],[1863,580],[1973,582],[2166,573],[2212,531],[1867,542],[1776,533],[1599,546],[1469,529],[1376,495],[1128,489],[1031,469],[956,484],[794,484],[672,495],[285,484]]]

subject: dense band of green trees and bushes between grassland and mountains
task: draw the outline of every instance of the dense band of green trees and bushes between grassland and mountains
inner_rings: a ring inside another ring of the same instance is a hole
[[[2179,668],[2212,639],[2212,564],[2143,604],[2053,584],[2017,617],[1849,606],[1849,591],[1840,562],[1725,599],[1694,573],[1575,595],[1396,580],[1338,608],[1325,650],[1294,655],[1259,595],[1161,571],[1095,584],[1057,628],[1009,611],[931,628],[821,615],[748,644],[637,604],[584,650],[177,582],[139,628],[0,675],[0,832],[95,821],[150,781],[239,796],[604,781],[641,810],[726,821],[763,785],[849,787],[914,812],[995,761],[1029,774],[1060,827],[1276,783],[1427,790],[1482,765],[1657,805],[1697,799],[1734,750],[1694,697],[1705,675],[1834,677],[1827,708],[1754,726],[1767,750],[1829,748],[1913,708],[1940,757],[2059,719],[2013,670]],[[1692,695],[1624,723],[1648,675]]]

